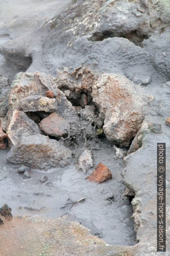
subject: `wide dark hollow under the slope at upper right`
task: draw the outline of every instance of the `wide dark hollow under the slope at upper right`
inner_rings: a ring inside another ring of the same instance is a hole
[[[137,46],[142,47],[142,42],[144,39],[148,39],[149,37],[147,35],[141,34],[137,30],[134,30],[130,33],[124,34],[124,33],[117,33],[114,30],[105,30],[103,32],[95,32],[92,37],[90,37],[88,40],[95,42],[95,41],[102,41],[107,38],[111,37],[123,37],[128,40],[130,40],[132,43],[136,44]]]

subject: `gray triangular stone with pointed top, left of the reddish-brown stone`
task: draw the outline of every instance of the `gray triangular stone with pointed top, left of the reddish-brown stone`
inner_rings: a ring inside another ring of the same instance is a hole
[[[12,145],[16,145],[23,135],[29,136],[37,133],[40,133],[40,129],[33,120],[29,119],[23,111],[13,111],[7,128],[7,135]]]

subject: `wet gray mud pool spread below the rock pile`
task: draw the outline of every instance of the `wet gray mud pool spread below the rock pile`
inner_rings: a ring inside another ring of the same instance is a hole
[[[32,170],[32,178],[23,179],[16,166],[7,165],[7,151],[0,152],[0,202],[10,205],[13,215],[52,218],[69,215],[71,220],[78,220],[108,244],[135,244],[132,207],[123,196],[126,189],[121,177],[124,163],[114,160],[114,150],[108,142],[103,143],[101,150],[93,151],[94,166],[103,162],[113,175],[112,180],[102,184],[85,180],[94,168],[85,175],[72,165],[48,172]],[[42,175],[48,177],[43,184],[39,181]],[[84,200],[77,202],[81,199]],[[127,209],[124,205],[128,205]]]

